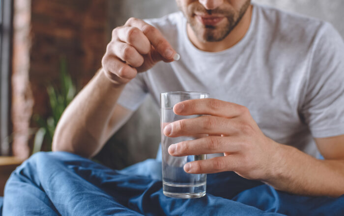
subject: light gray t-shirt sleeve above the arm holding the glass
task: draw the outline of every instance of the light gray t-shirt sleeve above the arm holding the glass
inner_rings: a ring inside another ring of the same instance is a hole
[[[302,115],[315,138],[344,134],[344,42],[325,23],[315,37]]]

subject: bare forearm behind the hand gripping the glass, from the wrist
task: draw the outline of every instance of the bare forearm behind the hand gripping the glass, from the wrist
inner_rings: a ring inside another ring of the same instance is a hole
[[[301,195],[344,194],[344,161],[318,160],[287,145],[281,145],[274,173],[266,183],[277,190]]]

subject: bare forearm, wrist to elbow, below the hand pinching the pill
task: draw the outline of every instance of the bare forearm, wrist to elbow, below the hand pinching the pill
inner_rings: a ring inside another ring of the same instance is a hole
[[[104,132],[124,84],[116,85],[100,70],[63,112],[53,139],[53,150],[85,157],[101,149]]]

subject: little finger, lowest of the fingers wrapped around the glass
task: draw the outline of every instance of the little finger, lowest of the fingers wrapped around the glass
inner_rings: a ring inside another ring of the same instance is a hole
[[[215,157],[208,160],[189,162],[184,171],[193,174],[235,171],[240,166],[240,158],[233,154],[226,157]]]

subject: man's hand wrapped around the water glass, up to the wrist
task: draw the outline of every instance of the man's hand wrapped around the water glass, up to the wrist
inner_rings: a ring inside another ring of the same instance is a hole
[[[193,161],[184,165],[188,173],[235,171],[244,178],[268,180],[279,161],[278,144],[266,137],[248,108],[222,100],[186,100],[173,107],[177,115],[205,115],[174,121],[164,128],[168,137],[208,134],[207,137],[172,144],[172,156],[224,153],[224,157]]]

